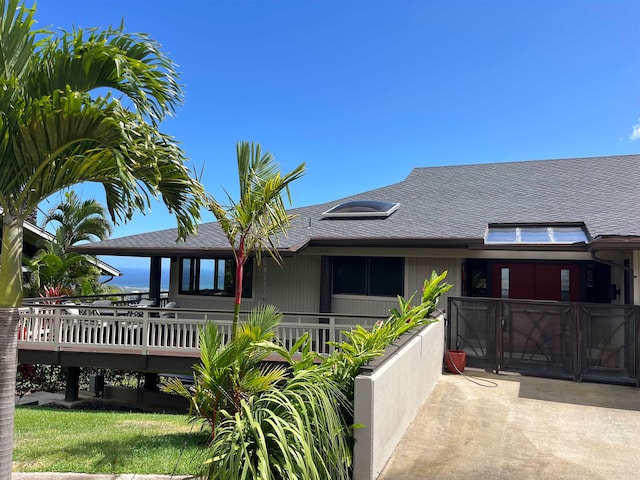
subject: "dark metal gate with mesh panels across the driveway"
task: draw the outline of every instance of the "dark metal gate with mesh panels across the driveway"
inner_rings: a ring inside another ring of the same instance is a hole
[[[640,307],[451,297],[447,346],[470,366],[639,385]]]

